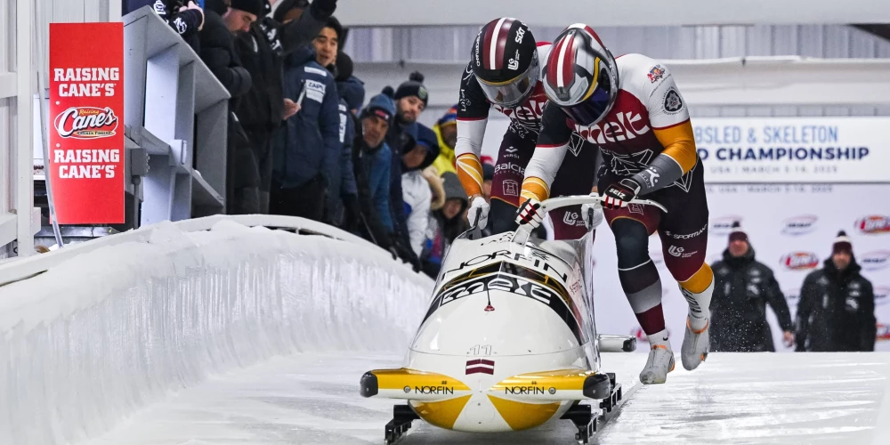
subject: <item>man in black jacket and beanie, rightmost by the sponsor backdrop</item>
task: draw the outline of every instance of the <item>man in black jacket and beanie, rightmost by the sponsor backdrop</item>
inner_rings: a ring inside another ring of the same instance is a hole
[[[831,257],[810,272],[797,303],[797,351],[865,352],[875,350],[875,292],[860,275],[853,243],[837,232]]]

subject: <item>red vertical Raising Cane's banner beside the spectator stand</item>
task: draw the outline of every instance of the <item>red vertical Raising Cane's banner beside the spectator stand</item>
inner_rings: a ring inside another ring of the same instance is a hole
[[[49,126],[58,222],[124,223],[123,23],[50,23]]]

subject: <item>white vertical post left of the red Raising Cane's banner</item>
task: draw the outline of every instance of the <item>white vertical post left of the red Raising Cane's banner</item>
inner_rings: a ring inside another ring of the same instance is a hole
[[[12,167],[14,195],[12,202],[16,212],[16,239],[19,256],[34,253],[34,232],[31,228],[31,210],[34,208],[34,149],[31,146],[34,127],[31,126],[34,106],[34,89],[31,76],[31,1],[16,1],[16,155]]]

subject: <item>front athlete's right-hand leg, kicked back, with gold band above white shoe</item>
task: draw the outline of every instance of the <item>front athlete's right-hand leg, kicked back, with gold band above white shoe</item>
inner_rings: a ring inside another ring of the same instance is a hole
[[[708,247],[708,199],[702,168],[696,166],[687,187],[675,185],[661,190],[659,201],[667,214],[659,225],[659,237],[667,270],[680,285],[689,317],[681,350],[683,366],[694,369],[708,356],[708,319],[714,272],[705,263]]]

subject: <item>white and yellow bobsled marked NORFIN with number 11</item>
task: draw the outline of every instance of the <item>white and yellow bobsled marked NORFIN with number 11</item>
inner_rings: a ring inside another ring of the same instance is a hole
[[[600,199],[552,198],[539,211]],[[597,415],[622,395],[615,375],[603,372],[600,352],[635,350],[633,336],[597,336],[585,271],[591,248],[591,232],[547,241],[523,229],[483,238],[473,228],[457,237],[404,366],[360,378],[363,397],[407,401],[394,407],[386,443],[418,418],[487,433],[561,418],[587,443]]]

